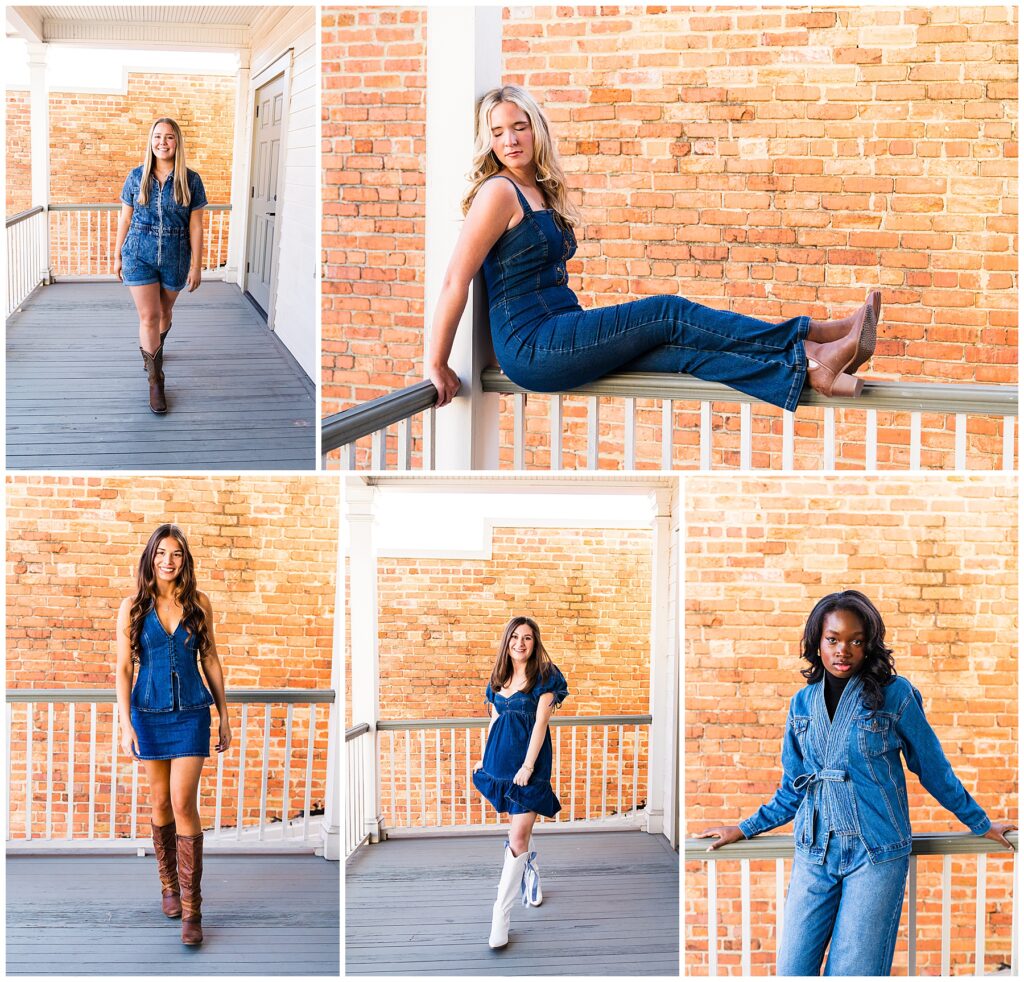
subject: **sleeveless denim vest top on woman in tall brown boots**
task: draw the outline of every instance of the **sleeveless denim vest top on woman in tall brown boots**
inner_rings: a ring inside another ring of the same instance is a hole
[[[213,696],[200,678],[196,639],[179,623],[168,634],[156,608],[142,621],[138,678],[131,692],[132,709],[142,713],[201,710]]]

